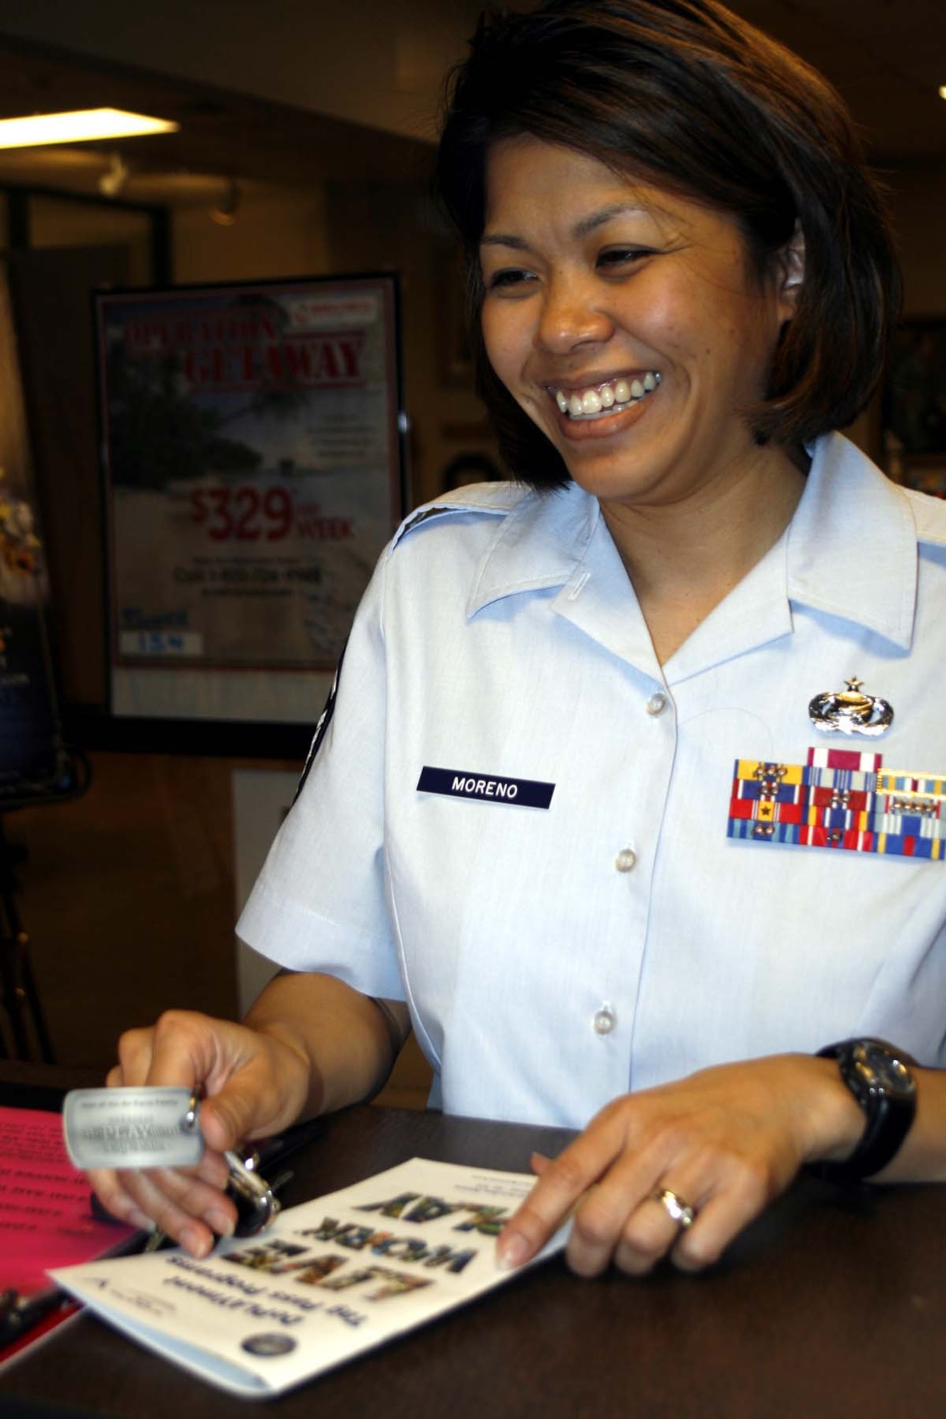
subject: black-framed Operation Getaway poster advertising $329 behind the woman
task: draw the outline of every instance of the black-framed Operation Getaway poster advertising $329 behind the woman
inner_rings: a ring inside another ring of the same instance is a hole
[[[95,307],[111,712],[142,746],[304,752],[405,512],[396,278]]]

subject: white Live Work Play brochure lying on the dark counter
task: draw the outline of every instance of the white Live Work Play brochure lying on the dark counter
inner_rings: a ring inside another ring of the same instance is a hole
[[[102,1320],[237,1395],[276,1395],[501,1286],[496,1237],[535,1179],[412,1158],[257,1237],[50,1274]],[[564,1226],[535,1260],[565,1244]]]

